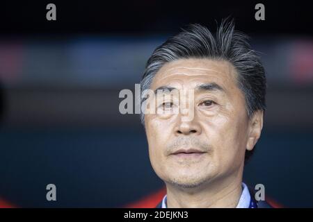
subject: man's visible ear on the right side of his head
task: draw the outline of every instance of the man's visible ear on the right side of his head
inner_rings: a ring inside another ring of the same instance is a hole
[[[263,128],[263,110],[257,110],[255,114],[253,114],[252,118],[249,120],[249,129],[248,129],[248,141],[246,149],[248,151],[252,151],[255,144],[257,144],[257,140],[261,136],[261,131]]]

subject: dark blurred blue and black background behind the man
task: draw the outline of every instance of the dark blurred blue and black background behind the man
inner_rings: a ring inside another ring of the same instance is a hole
[[[308,1],[307,1],[308,2]],[[123,207],[163,187],[138,114],[122,115],[156,46],[231,16],[262,52],[264,130],[244,180],[313,207],[313,29],[306,1],[1,1],[0,205]],[[46,6],[56,4],[56,21]],[[255,20],[264,3],[265,21]],[[46,200],[46,185],[57,201]]]

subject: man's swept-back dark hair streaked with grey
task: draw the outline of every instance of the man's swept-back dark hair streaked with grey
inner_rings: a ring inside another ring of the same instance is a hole
[[[248,35],[234,30],[233,20],[223,20],[215,35],[207,27],[191,24],[154,50],[141,79],[142,92],[150,89],[157,71],[167,62],[188,58],[226,60],[238,73],[237,84],[245,96],[248,117],[252,117],[257,110],[265,111],[265,71],[257,51],[251,49],[248,40]],[[143,113],[141,122],[144,125]],[[246,152],[246,159],[254,150]]]

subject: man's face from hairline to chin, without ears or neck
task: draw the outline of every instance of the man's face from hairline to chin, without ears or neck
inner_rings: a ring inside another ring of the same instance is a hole
[[[177,60],[158,71],[150,89],[194,90],[192,100],[187,93],[179,104],[173,96],[157,104],[166,114],[145,114],[150,161],[162,180],[198,187],[242,171],[250,128],[237,75],[230,62],[208,59]],[[187,113],[172,112],[186,103],[193,105],[188,121]]]

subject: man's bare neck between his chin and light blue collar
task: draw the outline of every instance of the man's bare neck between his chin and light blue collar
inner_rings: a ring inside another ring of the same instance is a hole
[[[236,176],[209,181],[195,188],[182,188],[166,183],[167,207],[234,208],[242,192],[242,171],[236,174]]]

